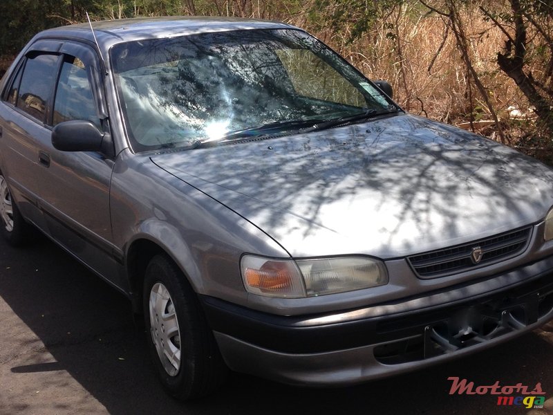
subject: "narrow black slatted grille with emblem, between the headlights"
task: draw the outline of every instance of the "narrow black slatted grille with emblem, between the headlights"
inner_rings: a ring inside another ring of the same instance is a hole
[[[520,254],[528,243],[531,230],[530,226],[512,230],[451,248],[413,255],[407,257],[407,260],[415,273],[423,278],[463,273]],[[473,254],[478,248],[481,252],[480,260],[478,260],[478,252]]]

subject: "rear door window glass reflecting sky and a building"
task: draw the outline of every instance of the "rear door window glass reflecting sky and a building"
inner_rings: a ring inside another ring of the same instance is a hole
[[[41,122],[44,122],[46,107],[54,89],[57,62],[57,55],[28,57],[21,77],[17,107]]]

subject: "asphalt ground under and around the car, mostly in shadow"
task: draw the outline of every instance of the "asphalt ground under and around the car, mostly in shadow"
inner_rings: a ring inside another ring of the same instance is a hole
[[[553,324],[462,360],[342,389],[288,387],[232,374],[215,396],[180,403],[151,367],[129,302],[44,239],[0,241],[0,414],[553,414]],[[541,382],[543,409],[495,396],[450,395],[450,376],[475,385]]]

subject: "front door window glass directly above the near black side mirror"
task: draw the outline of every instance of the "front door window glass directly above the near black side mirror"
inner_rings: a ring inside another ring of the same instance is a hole
[[[64,59],[56,88],[54,125],[68,120],[88,120],[101,128],[87,69],[78,57]]]

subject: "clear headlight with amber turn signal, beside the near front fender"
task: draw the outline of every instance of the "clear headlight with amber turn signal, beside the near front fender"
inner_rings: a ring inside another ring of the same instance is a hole
[[[388,284],[384,263],[366,257],[294,261],[244,255],[241,271],[248,292],[269,297],[317,297]]]

